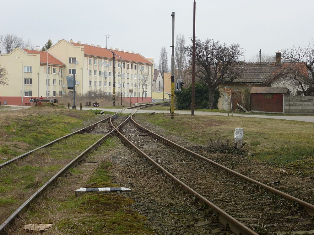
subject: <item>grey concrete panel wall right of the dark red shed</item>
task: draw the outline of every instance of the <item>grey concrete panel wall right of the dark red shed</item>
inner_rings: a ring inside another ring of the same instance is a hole
[[[314,113],[314,96],[284,96],[284,113]]]

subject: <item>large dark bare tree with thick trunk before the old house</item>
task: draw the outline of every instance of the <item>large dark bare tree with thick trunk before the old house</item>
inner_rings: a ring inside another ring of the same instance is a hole
[[[191,39],[192,41],[192,39]],[[192,45],[187,47],[189,61],[192,63]],[[240,57],[243,48],[239,44],[221,44],[219,41],[207,39],[195,42],[195,75],[208,86],[209,108],[214,108],[214,90],[223,81],[233,81],[241,76]]]

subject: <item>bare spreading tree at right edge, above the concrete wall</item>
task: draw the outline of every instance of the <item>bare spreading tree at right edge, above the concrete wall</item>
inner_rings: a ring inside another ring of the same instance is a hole
[[[314,95],[314,43],[307,46],[293,46],[281,53],[285,62],[292,62],[290,66],[284,67],[284,73],[288,74],[302,89],[305,96]],[[308,71],[302,71],[300,64],[304,64]]]

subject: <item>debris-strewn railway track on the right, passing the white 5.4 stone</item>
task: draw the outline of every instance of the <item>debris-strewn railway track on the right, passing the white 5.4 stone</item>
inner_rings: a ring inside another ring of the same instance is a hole
[[[133,113],[134,114],[134,113]],[[154,166],[196,195],[223,230],[236,234],[307,233],[314,205],[206,159],[140,126],[133,119],[119,136]],[[114,125],[113,125],[114,126]],[[204,164],[204,161],[209,164]],[[272,192],[269,194],[269,191]]]

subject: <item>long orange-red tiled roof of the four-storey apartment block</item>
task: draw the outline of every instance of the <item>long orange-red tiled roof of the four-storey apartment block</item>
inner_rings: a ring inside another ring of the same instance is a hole
[[[116,59],[126,60],[126,61],[133,61],[137,63],[143,64],[152,64],[148,60],[145,60],[141,55],[129,53],[125,51],[118,51],[118,50],[109,50],[108,48],[98,47],[98,46],[91,46],[86,44],[79,44],[76,42],[70,42],[74,46],[84,46],[84,54],[85,55],[92,55],[98,57],[105,57],[105,58],[112,58],[112,52],[114,52],[119,57]]]

